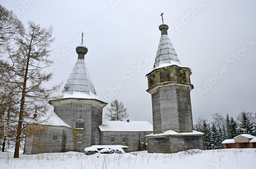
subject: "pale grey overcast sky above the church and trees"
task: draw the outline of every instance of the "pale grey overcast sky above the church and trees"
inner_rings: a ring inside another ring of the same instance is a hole
[[[256,1],[3,1],[26,25],[53,27],[51,84],[66,83],[75,47],[88,47],[85,60],[97,94],[127,107],[130,120],[152,123],[145,75],[153,68],[161,12],[181,64],[190,67],[195,119],[214,113],[236,117],[256,110]],[[63,86],[62,85],[62,86]],[[61,88],[62,90],[62,88]],[[103,109],[103,113],[106,108]]]

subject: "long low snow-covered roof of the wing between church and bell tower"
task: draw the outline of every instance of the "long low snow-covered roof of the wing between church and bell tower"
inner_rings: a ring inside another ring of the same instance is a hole
[[[100,131],[153,131],[153,126],[146,121],[103,121]]]

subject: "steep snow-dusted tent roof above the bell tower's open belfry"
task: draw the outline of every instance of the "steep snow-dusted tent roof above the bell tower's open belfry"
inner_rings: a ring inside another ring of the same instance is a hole
[[[160,38],[153,69],[174,64],[181,66],[180,60],[175,52],[172,42],[170,42],[168,35],[163,34]]]

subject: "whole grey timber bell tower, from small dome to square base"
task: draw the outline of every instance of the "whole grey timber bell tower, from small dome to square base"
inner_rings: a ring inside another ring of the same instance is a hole
[[[203,149],[203,133],[193,132],[190,91],[194,87],[190,83],[191,70],[181,65],[167,36],[168,26],[163,23],[159,30],[161,38],[154,68],[146,75],[146,91],[152,96],[153,110],[153,134],[146,136],[147,152],[177,153]]]

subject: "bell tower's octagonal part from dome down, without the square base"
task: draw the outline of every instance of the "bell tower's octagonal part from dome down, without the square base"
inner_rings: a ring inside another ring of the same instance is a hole
[[[192,132],[190,102],[191,70],[183,67],[170,42],[168,26],[159,26],[161,39],[153,70],[147,74],[148,89],[152,95],[154,134],[167,130]]]

